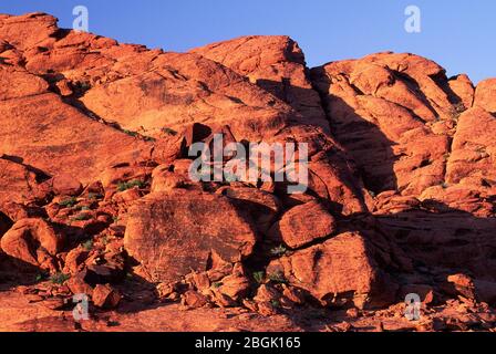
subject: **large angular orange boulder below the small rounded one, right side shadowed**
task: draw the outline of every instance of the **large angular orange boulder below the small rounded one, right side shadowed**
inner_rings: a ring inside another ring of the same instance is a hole
[[[342,233],[275,260],[267,272],[282,274],[323,303],[348,302],[359,308],[393,302],[397,288],[379,268],[371,246],[358,232]]]

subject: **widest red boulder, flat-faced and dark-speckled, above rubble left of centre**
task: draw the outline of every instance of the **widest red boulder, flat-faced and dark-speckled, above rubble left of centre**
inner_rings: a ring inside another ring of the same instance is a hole
[[[167,282],[207,271],[217,258],[239,262],[255,241],[248,215],[226,197],[177,190],[152,194],[133,207],[124,244],[151,279]]]

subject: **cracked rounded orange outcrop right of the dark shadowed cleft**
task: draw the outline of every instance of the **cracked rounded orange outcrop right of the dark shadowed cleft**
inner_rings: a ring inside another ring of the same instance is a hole
[[[448,136],[461,98],[426,59],[381,53],[312,70],[331,128],[368,189],[418,194],[444,180]],[[458,105],[456,105],[458,104]]]

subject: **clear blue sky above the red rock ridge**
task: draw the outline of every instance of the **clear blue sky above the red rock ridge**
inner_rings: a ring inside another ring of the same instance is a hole
[[[121,42],[186,51],[246,34],[288,34],[310,66],[380,51],[413,52],[450,75],[496,76],[494,0],[1,0],[0,12],[44,11],[72,27],[86,6],[90,31]],[[422,32],[404,30],[404,10],[422,10]]]

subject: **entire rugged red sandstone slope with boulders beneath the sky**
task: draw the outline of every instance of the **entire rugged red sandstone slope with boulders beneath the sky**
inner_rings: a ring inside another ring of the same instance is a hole
[[[496,81],[413,54],[308,69],[287,37],[172,53],[0,15],[0,298],[33,316],[3,330],[66,330],[79,293],[76,330],[492,330],[495,114]],[[216,133],[308,143],[307,192],[192,181]]]

